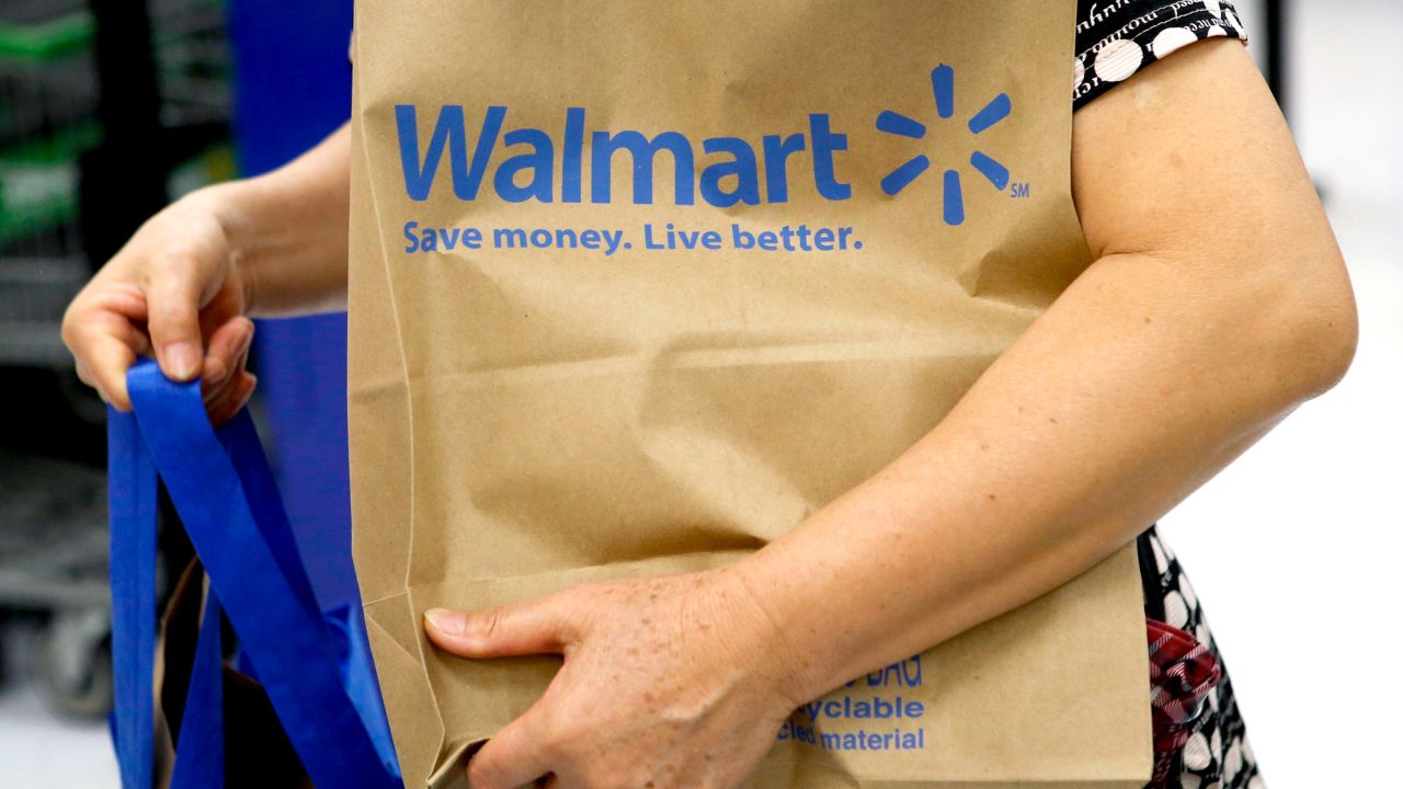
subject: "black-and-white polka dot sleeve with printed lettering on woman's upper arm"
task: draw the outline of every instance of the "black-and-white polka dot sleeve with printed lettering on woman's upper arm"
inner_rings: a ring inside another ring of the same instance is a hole
[[[1078,0],[1072,108],[1195,41],[1247,41],[1228,0]]]

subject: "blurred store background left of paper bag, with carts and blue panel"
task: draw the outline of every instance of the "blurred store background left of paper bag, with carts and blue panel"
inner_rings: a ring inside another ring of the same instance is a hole
[[[167,201],[340,125],[349,32],[351,0],[0,0],[0,789],[118,785],[105,406],[73,373],[63,309]],[[310,348],[344,333],[278,321],[254,352],[323,604],[354,594],[345,359]],[[164,583],[189,548],[170,528],[161,549]]]

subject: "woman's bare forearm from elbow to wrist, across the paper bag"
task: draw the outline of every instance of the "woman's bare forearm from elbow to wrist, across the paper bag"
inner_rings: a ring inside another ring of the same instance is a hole
[[[1347,316],[1193,288],[1101,260],[916,446],[742,566],[810,667],[797,699],[1076,577],[1343,372]]]

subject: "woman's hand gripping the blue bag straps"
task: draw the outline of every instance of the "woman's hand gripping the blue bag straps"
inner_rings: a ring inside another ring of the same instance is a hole
[[[146,354],[175,380],[203,375],[216,424],[253,394],[244,364],[254,324],[223,194],[192,192],[149,219],[69,305],[63,341],[79,378],[119,410],[132,407],[126,369]]]

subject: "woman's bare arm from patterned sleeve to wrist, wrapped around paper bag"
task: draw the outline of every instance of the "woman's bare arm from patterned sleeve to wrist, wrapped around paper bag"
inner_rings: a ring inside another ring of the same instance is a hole
[[[1340,251],[1239,42],[1079,112],[1073,188],[1096,263],[916,446],[742,563],[810,665],[796,701],[1087,570],[1348,366]]]

